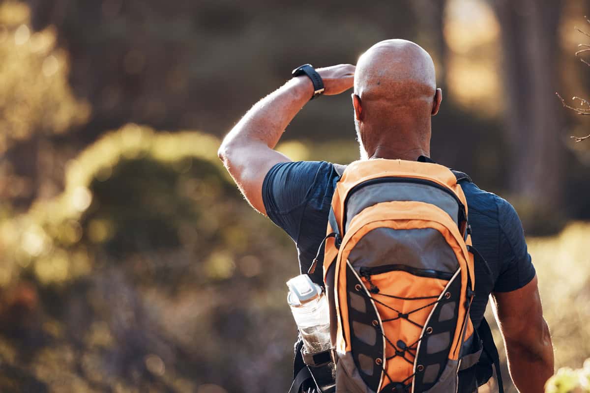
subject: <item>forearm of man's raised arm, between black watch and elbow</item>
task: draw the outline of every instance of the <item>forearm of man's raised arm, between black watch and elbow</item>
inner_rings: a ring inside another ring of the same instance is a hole
[[[285,128],[309,101],[313,84],[306,76],[293,78],[258,101],[225,137],[223,145],[264,143],[274,148]]]

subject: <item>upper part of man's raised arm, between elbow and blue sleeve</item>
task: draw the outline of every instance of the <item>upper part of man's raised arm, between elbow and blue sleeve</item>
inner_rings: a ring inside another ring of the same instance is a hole
[[[258,212],[267,214],[262,197],[264,178],[273,166],[289,161],[289,157],[266,144],[255,143],[235,148],[226,167],[248,203]]]

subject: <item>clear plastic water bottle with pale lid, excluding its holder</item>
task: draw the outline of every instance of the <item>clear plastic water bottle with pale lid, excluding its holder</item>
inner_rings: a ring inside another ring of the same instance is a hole
[[[330,310],[322,287],[308,275],[300,275],[287,281],[293,318],[308,354],[319,354],[330,349]]]

